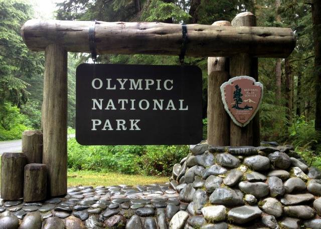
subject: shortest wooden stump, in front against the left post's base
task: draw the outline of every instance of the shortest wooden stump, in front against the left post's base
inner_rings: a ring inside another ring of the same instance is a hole
[[[47,166],[31,163],[25,166],[24,201],[41,201],[47,197]]]

